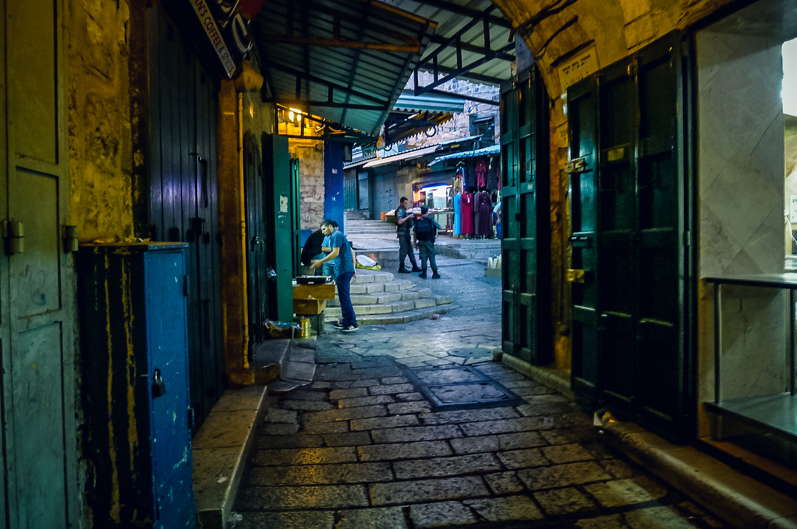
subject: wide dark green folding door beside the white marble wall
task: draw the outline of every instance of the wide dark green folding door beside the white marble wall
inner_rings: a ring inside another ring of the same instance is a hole
[[[671,438],[691,394],[681,69],[669,35],[567,96],[572,387]]]

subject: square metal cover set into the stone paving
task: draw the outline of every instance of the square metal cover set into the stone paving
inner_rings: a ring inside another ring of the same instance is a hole
[[[437,409],[517,406],[523,400],[471,366],[414,367],[408,378]]]

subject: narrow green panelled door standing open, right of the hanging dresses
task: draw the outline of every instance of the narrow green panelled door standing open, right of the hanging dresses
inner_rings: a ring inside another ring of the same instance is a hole
[[[544,365],[551,351],[548,94],[532,68],[501,86],[502,339]]]

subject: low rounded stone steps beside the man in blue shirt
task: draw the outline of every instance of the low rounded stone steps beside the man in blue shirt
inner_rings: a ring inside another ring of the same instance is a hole
[[[446,314],[455,308],[453,298],[432,293],[410,280],[396,279],[388,272],[357,270],[351,281],[351,304],[361,325],[406,323]],[[329,300],[324,311],[327,322],[340,318],[340,302]]]

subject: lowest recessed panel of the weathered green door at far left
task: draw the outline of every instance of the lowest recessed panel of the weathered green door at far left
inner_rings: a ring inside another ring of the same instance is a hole
[[[16,527],[67,527],[61,323],[20,332],[13,357]]]

